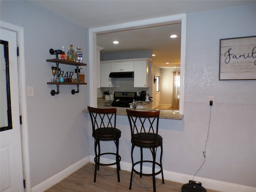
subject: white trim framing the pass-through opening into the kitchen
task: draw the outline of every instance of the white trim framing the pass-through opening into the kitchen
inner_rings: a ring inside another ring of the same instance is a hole
[[[100,64],[97,63],[97,40],[96,35],[105,32],[121,31],[140,28],[142,26],[158,26],[181,22],[181,53],[180,53],[180,114],[184,114],[184,80],[185,80],[185,52],[186,52],[186,14],[158,17],[135,22],[128,22],[88,30],[89,44],[89,74],[90,75],[90,106],[97,106],[97,84]]]

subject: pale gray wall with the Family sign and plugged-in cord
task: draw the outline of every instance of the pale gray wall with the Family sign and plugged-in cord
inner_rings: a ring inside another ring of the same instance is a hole
[[[206,162],[196,176],[256,187],[256,81],[218,80],[219,40],[255,35],[255,10],[256,4],[187,14],[184,119],[160,119],[164,170],[193,177],[200,168],[208,96],[215,96]],[[118,116],[117,126],[122,161],[130,162],[127,117]]]

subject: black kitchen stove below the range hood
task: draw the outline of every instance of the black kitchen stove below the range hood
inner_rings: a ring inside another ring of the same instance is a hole
[[[136,100],[137,92],[114,92],[112,107],[130,107],[129,103]]]

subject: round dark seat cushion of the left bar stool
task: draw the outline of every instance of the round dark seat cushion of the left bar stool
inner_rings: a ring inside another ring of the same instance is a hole
[[[117,128],[98,128],[94,130],[94,138],[98,139],[117,139],[121,137],[121,131]]]

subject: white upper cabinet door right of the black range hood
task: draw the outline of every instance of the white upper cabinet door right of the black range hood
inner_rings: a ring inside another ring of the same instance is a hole
[[[148,62],[134,62],[134,87],[149,87]]]

